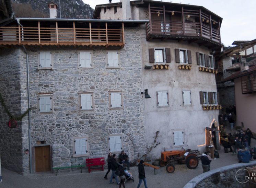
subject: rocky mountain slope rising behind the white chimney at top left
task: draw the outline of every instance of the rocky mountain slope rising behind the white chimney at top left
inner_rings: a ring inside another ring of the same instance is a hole
[[[22,3],[24,6],[25,4],[30,4],[33,10],[35,10],[36,12],[41,11],[41,15],[44,15],[44,17],[49,17],[48,4],[50,2],[51,0],[12,0],[13,11],[15,14],[17,14],[16,17],[27,17],[23,16],[27,15],[27,12],[19,12],[19,8],[15,10],[14,4]],[[89,4],[84,4],[82,0],[55,0],[53,2],[58,5],[57,18],[91,19],[92,17],[93,9],[90,7]],[[30,15],[28,17],[34,16]]]

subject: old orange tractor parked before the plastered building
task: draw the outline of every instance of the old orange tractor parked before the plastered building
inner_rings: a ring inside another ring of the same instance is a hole
[[[186,156],[184,155],[185,153],[187,154]],[[164,167],[167,164],[166,171],[168,173],[172,173],[174,172],[175,167],[171,163],[177,161],[180,164],[187,164],[187,167],[190,169],[195,169],[198,166],[198,158],[196,153],[199,153],[199,151],[190,149],[185,150],[182,146],[181,150],[164,151],[161,153],[159,166]]]

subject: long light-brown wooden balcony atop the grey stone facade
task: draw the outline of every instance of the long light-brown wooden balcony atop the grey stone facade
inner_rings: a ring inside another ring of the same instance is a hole
[[[23,25],[23,23],[21,23]],[[24,22],[0,27],[0,45],[117,46],[123,48],[124,23]]]

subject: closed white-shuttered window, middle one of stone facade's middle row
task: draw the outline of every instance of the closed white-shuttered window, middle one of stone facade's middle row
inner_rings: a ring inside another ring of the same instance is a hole
[[[79,107],[81,110],[93,110],[93,92],[81,92],[79,94]]]

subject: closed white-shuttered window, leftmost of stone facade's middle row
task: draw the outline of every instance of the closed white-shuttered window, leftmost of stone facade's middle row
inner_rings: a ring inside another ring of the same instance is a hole
[[[40,94],[38,99],[38,112],[39,113],[49,113],[53,112],[53,95]]]

